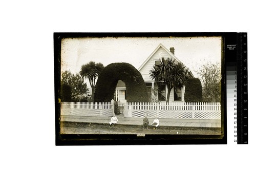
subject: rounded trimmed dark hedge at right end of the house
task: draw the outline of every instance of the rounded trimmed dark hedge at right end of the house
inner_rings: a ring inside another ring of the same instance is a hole
[[[198,78],[189,78],[186,81],[185,102],[202,102],[202,84]]]

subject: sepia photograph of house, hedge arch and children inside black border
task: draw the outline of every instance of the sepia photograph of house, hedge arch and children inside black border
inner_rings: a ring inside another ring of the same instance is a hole
[[[83,35],[60,40],[60,135],[223,139],[222,36]]]

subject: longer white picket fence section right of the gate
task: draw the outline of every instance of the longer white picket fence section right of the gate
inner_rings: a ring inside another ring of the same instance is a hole
[[[215,103],[185,103],[175,102],[126,102],[124,103],[124,117],[167,119],[221,119],[221,104]]]

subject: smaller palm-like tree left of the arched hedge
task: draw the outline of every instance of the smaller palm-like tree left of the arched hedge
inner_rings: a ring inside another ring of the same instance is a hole
[[[92,101],[94,101],[96,79],[103,69],[104,66],[102,63],[95,63],[94,61],[90,61],[89,63],[81,66],[80,75],[84,78],[88,78],[92,88]]]

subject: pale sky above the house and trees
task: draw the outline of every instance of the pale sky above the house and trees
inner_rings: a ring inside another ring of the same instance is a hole
[[[148,56],[162,44],[175,48],[175,56],[195,77],[205,62],[221,63],[221,37],[86,37],[61,41],[61,71],[79,73],[83,64],[127,62],[138,69]]]

